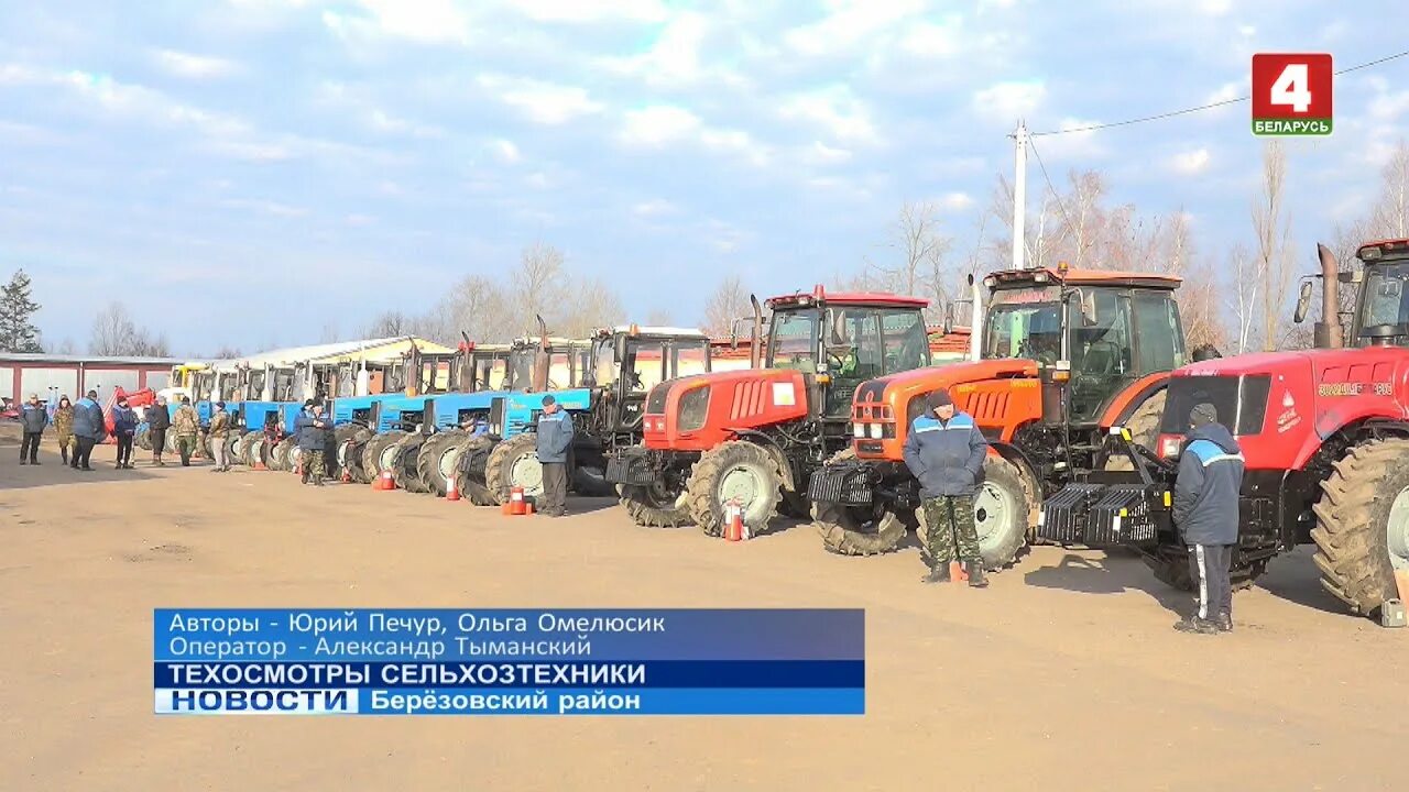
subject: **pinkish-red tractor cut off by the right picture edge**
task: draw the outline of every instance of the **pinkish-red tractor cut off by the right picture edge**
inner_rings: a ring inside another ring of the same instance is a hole
[[[1409,575],[1409,240],[1360,248],[1363,272],[1339,272],[1320,247],[1324,317],[1317,349],[1237,355],[1174,372],[1153,450],[1126,443],[1136,474],[1092,476],[1044,505],[1040,533],[1134,545],[1160,579],[1191,582],[1169,520],[1177,459],[1193,404],[1209,402],[1247,459],[1233,569],[1255,578],[1277,552],[1315,544],[1322,585],[1374,614]],[[1340,283],[1360,283],[1348,347]],[[1306,316],[1303,282],[1296,321]]]

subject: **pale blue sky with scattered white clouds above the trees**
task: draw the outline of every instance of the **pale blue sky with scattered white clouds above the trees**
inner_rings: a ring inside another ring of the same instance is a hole
[[[695,321],[724,273],[774,292],[881,255],[906,200],[972,244],[1019,117],[1240,96],[1253,52],[1344,68],[1409,23],[1402,0],[3,6],[0,273],[34,276],[51,344],[121,299],[180,354],[349,335],[534,240],[634,316]],[[1038,147],[1219,251],[1251,235],[1248,113]],[[1409,58],[1337,79],[1336,134],[1291,147],[1303,249],[1361,211],[1406,123]]]

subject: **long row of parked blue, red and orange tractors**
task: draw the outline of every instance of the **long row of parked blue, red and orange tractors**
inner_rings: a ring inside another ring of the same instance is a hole
[[[926,300],[820,286],[766,300],[766,314],[754,303],[747,368],[713,365],[697,331],[620,327],[562,344],[544,331],[503,351],[507,376],[480,390],[482,352],[462,345],[447,392],[333,399],[337,472],[390,471],[410,492],[454,486],[476,505],[516,488],[533,497],[533,431],[552,393],[576,427],[573,488],[616,495],[637,524],[717,537],[737,509],[751,534],[779,516],[812,520],[828,551],[872,555],[926,530],[902,452],[943,389],[991,443],[975,499],[985,567],[1038,543],[1131,547],[1186,589],[1171,496],[1189,410],[1212,403],[1247,459],[1234,582],[1315,544],[1326,589],[1374,614],[1409,576],[1409,241],[1357,256],[1341,272],[1320,248],[1322,271],[1302,283],[1296,321],[1317,279],[1329,307],[1316,349],[1195,355],[1178,278],[1067,266],[971,282],[969,359],[943,365]],[[1341,286],[1358,286],[1348,321]],[[238,404],[234,458],[296,464],[263,421],[287,435],[300,407]]]

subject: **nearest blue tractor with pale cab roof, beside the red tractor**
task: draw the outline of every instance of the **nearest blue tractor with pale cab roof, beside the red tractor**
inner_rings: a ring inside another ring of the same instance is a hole
[[[545,395],[572,416],[573,490],[610,495],[606,455],[640,443],[647,392],[665,379],[710,371],[709,337],[699,330],[614,327],[565,344],[545,335],[520,342],[523,354],[510,366],[511,386],[528,388],[496,397],[488,435],[461,452],[461,492],[475,503],[503,503],[514,488],[528,497],[542,493],[535,426]]]

